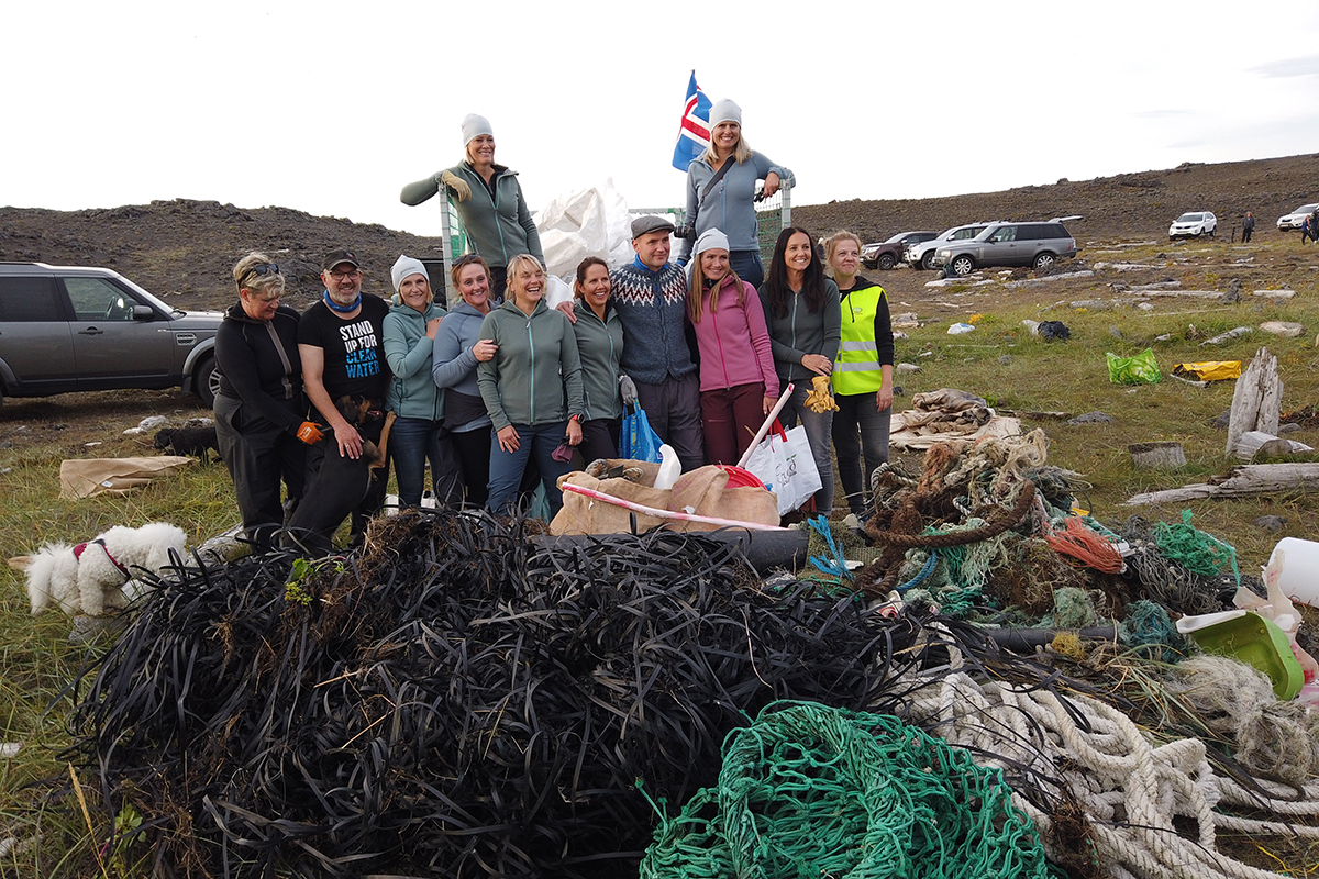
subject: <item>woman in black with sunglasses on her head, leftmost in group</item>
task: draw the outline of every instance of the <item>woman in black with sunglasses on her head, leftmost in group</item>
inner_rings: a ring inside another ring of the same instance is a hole
[[[248,253],[233,266],[233,282],[239,302],[215,332],[215,436],[233,480],[243,531],[262,552],[302,497],[306,443],[321,435],[303,420],[298,312],[280,304],[280,266],[264,253]],[[288,492],[282,503],[281,484]]]

